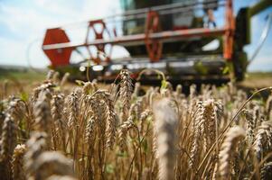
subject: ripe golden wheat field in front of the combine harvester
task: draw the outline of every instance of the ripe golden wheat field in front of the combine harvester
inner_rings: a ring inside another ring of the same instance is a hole
[[[67,86],[50,71],[0,104],[0,179],[272,179],[272,94],[119,83]],[[4,88],[5,89],[5,88]]]

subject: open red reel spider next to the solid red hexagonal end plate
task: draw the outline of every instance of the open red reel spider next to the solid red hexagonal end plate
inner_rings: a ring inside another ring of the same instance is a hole
[[[96,29],[96,25],[101,25],[101,31],[98,31]],[[94,35],[95,35],[95,40],[104,40],[104,34],[107,33],[108,34],[108,37],[110,37],[110,33],[108,31],[108,28],[106,26],[106,23],[103,22],[103,20],[96,20],[96,21],[91,21],[89,22],[89,26],[88,26],[88,30],[87,30],[87,35],[86,35],[86,44],[88,44],[88,37],[89,37],[89,32],[90,31],[93,31]],[[108,54],[106,53],[105,51],[105,47],[106,45],[105,44],[97,44],[95,45],[94,47],[96,48],[98,54],[99,53],[102,53],[103,55],[105,55],[105,60],[107,62],[110,61],[110,55],[111,55],[111,51],[112,51],[112,45],[111,44],[108,44],[110,46],[109,48],[109,52]],[[87,46],[87,50],[89,52],[89,58],[92,59],[96,64],[100,64],[101,63],[101,59],[99,58],[98,54],[97,56],[93,56],[89,47]]]

